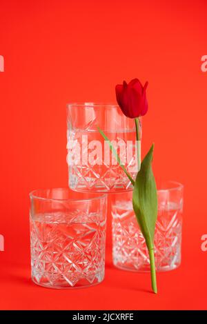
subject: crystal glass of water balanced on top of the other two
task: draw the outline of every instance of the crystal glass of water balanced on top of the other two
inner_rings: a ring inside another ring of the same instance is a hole
[[[67,122],[69,187],[83,192],[131,190],[128,177],[98,128],[112,141],[121,163],[135,179],[138,170],[135,121],[125,117],[118,105],[70,103]],[[141,119],[139,124],[141,138]]]

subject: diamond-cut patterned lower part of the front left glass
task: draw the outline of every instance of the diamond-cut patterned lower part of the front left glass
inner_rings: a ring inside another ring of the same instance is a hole
[[[98,219],[78,210],[68,217],[53,213],[30,218],[33,281],[57,288],[101,282],[106,222]]]

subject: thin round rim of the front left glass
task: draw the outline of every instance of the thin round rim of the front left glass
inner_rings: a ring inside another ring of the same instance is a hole
[[[30,199],[39,199],[41,201],[56,201],[56,202],[73,202],[73,203],[80,203],[83,201],[96,201],[96,200],[101,200],[101,199],[106,199],[107,198],[107,194],[103,193],[100,194],[99,192],[97,192],[97,196],[93,196],[91,198],[86,198],[86,199],[75,199],[75,198],[69,198],[69,199],[58,199],[58,198],[45,198],[41,195],[36,195],[35,192],[38,191],[47,191],[47,190],[70,190],[70,188],[67,187],[59,187],[59,188],[39,188],[39,189],[34,189],[29,193]],[[72,190],[71,190],[72,191]],[[72,191],[75,192],[75,191]],[[95,192],[76,192],[77,194],[96,194]]]

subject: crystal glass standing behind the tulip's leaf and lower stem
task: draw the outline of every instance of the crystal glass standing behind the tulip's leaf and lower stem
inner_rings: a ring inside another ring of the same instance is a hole
[[[183,185],[164,183],[158,194],[158,217],[155,227],[155,265],[157,271],[177,268],[181,263]],[[132,191],[111,195],[112,258],[123,270],[150,271],[144,236],[132,208]]]

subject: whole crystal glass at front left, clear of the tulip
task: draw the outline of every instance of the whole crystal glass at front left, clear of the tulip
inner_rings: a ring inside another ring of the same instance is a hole
[[[57,188],[30,193],[32,281],[50,288],[86,287],[104,277],[105,194]]]

